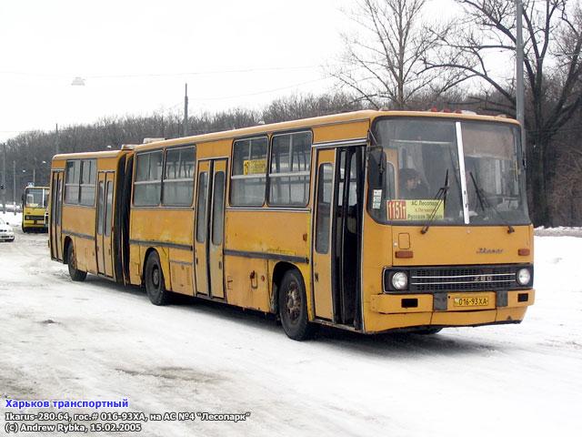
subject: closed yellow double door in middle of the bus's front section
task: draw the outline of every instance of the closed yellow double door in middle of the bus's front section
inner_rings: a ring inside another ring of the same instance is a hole
[[[196,294],[225,298],[226,159],[200,161],[196,195]]]

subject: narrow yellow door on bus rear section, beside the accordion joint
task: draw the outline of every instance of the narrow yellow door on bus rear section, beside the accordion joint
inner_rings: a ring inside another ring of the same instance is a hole
[[[96,239],[95,254],[97,272],[113,278],[113,253],[111,234],[113,231],[113,193],[115,173],[100,171],[97,178]]]

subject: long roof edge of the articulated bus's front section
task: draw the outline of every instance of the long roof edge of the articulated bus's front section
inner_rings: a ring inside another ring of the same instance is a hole
[[[431,112],[431,111],[386,111],[386,110],[363,110],[355,112],[346,112],[335,114],[331,116],[303,118],[293,121],[284,121],[269,125],[257,125],[254,127],[243,127],[240,129],[233,129],[221,132],[213,132],[209,134],[202,134],[193,137],[180,137],[173,139],[166,139],[161,141],[149,142],[135,146],[135,151],[148,150],[151,148],[166,147],[166,146],[180,146],[185,144],[197,144],[207,141],[214,141],[217,139],[227,139],[236,137],[249,137],[256,134],[274,133],[282,130],[294,130],[301,127],[317,127],[336,123],[349,123],[361,120],[373,121],[377,117],[437,117],[437,118],[455,118],[461,120],[478,120],[478,121],[496,121],[502,123],[510,123],[517,125],[517,120],[507,118],[504,116],[479,116],[476,114],[459,114],[448,112]]]

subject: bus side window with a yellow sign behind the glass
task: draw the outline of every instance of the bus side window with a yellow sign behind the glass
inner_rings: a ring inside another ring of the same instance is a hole
[[[266,186],[266,137],[235,141],[230,204],[262,207]]]

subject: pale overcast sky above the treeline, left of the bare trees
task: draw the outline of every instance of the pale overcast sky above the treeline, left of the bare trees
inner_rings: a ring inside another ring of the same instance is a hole
[[[449,0],[433,0],[442,11]],[[334,86],[349,0],[0,3],[0,140],[100,117],[262,107]],[[85,86],[72,86],[76,76]]]

